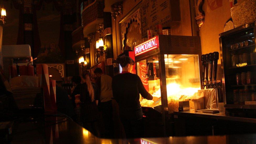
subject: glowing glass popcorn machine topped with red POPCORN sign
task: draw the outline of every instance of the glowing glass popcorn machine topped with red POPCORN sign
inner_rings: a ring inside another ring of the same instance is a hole
[[[199,57],[200,37],[196,36],[159,35],[135,46],[137,74],[153,96],[153,100],[141,97],[141,106],[178,111],[179,101],[201,89]]]

